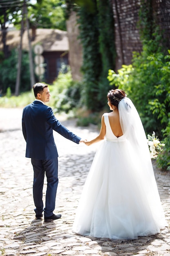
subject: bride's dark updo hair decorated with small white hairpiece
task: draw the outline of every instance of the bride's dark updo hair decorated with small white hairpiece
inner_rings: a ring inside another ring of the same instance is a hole
[[[110,103],[117,108],[119,102],[124,99],[124,97],[126,97],[126,93],[120,89],[110,90],[107,94],[107,98]]]

